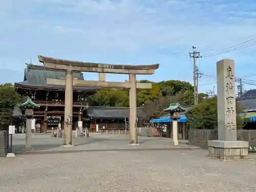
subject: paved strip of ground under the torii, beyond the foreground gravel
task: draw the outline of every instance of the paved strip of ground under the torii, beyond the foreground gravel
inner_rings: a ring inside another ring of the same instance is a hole
[[[102,151],[102,150],[140,150],[144,148],[154,148],[155,150],[168,150],[169,148],[198,148],[187,146],[186,141],[180,141],[178,147],[172,145],[172,140],[160,137],[138,137],[140,145],[130,146],[129,135],[113,135],[113,134],[91,134],[89,138],[73,137],[72,143],[74,147],[61,147],[63,138],[53,138],[51,135],[35,134],[32,137],[32,153],[54,153],[70,151],[85,152],[85,151]],[[25,134],[17,134],[13,137],[13,151],[15,153],[22,152],[25,148]]]

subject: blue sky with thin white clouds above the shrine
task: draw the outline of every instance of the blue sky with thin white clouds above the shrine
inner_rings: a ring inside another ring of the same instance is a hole
[[[23,80],[37,55],[88,62],[160,63],[137,79],[193,82],[189,51],[221,50],[256,37],[255,0],[0,0],[0,82]],[[216,61],[236,61],[236,76],[256,74],[256,45],[201,58],[200,91],[216,84]],[[88,80],[97,74],[85,73]],[[123,81],[108,74],[106,80]],[[246,79],[256,80],[255,76]],[[212,83],[212,84],[208,84]],[[207,84],[207,85],[205,85]],[[245,85],[245,89],[256,88]],[[215,88],[216,89],[216,88]]]

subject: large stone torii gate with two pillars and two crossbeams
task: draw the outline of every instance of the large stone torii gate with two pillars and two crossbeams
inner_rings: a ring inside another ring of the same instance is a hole
[[[159,68],[159,64],[153,65],[111,65],[105,63],[79,62],[38,56],[44,63],[45,70],[66,71],[66,79],[47,79],[47,84],[66,86],[65,89],[65,129],[64,145],[72,146],[72,115],[73,115],[73,86],[101,87],[101,88],[129,88],[130,102],[130,144],[137,144],[137,89],[152,89],[151,83],[136,82],[137,75],[151,75]],[[34,66],[36,68],[43,68]],[[73,72],[99,73],[99,81],[87,81],[73,79]],[[129,81],[111,82],[105,81],[105,73],[129,74]]]

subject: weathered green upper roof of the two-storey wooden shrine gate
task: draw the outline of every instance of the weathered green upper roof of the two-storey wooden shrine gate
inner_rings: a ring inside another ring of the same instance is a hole
[[[66,76],[65,72],[62,71],[50,71],[50,70],[36,70],[28,69],[24,70],[24,80],[22,82],[16,82],[15,86],[24,87],[24,88],[33,88],[33,89],[53,89],[53,90],[65,90],[65,86],[51,86],[46,82],[47,78],[54,79],[64,79]],[[83,74],[80,72],[74,72],[73,78],[78,80],[84,80]],[[74,90],[84,90],[84,91],[93,91],[99,90],[100,88],[96,87],[73,87]]]

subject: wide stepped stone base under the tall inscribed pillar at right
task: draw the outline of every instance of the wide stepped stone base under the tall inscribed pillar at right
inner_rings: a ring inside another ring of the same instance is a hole
[[[249,159],[247,141],[208,141],[209,157],[221,160]]]

